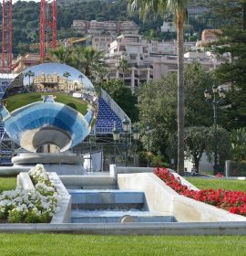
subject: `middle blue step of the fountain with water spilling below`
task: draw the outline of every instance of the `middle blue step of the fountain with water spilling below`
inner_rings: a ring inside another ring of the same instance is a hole
[[[118,189],[81,190],[68,189],[72,197],[72,208],[143,208],[145,194],[141,191]]]

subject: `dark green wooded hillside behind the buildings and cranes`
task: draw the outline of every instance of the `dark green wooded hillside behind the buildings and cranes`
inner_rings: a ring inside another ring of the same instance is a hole
[[[207,7],[218,5],[220,1],[190,0],[189,7]],[[57,30],[58,38],[79,37],[70,27],[74,19],[85,20],[134,20],[140,27],[140,33],[149,36],[150,29],[160,39],[159,35],[162,18],[156,20],[147,18],[145,23],[139,21],[138,13],[128,14],[128,0],[58,0],[57,1]],[[29,44],[39,42],[39,3],[17,1],[13,6],[14,54],[29,51]],[[2,7],[0,6],[0,23],[2,21]],[[208,14],[190,16],[189,33],[199,32],[206,27],[214,27]],[[174,35],[175,36],[175,35]]]

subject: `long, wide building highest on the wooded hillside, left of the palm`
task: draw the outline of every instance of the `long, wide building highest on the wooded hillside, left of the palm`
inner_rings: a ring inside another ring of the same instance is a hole
[[[123,33],[138,34],[138,26],[134,21],[97,21],[97,20],[74,20],[72,28],[78,32],[89,35],[110,34],[118,35]]]

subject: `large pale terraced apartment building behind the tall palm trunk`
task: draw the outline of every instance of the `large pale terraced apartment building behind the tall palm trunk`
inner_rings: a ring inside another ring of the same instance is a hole
[[[190,52],[195,42],[185,42],[185,64],[200,62],[207,69],[215,69],[220,60],[210,53]],[[139,35],[126,34],[117,37],[110,44],[106,62],[108,63],[108,77],[123,79],[134,92],[141,83],[149,80],[159,80],[168,72],[178,69],[177,41],[158,42],[143,39]],[[121,69],[121,59],[128,60],[128,68]]]

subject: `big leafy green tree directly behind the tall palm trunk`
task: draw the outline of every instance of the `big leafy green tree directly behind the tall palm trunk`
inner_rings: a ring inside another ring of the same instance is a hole
[[[204,101],[203,96],[204,90],[213,84],[210,72],[199,63],[194,63],[186,67],[184,76],[186,127],[212,125],[210,104]],[[152,81],[139,91],[139,123],[142,131],[147,123],[151,123],[151,151],[154,153],[167,154],[169,134],[177,134],[176,93],[176,73],[169,73],[162,80]],[[177,139],[175,142],[177,143]],[[144,144],[147,144],[147,140]],[[177,149],[173,144],[172,148],[174,147]],[[177,154],[174,156],[177,159]]]

